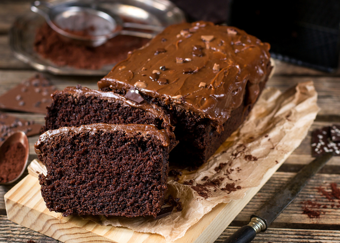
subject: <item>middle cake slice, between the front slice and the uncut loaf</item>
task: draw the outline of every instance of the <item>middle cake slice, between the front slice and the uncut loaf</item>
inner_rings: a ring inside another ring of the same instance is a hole
[[[124,97],[80,85],[56,91],[52,95],[52,104],[47,107],[42,132],[94,123],[148,124],[165,130],[172,149],[178,142],[173,133],[174,127],[171,125],[170,115],[156,104],[143,102],[134,88],[129,93],[130,96],[127,94]]]

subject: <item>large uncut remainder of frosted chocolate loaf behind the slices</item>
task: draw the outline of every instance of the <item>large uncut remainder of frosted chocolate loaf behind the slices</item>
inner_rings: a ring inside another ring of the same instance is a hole
[[[132,87],[166,109],[179,144],[170,160],[198,166],[244,121],[272,70],[270,45],[235,27],[172,25],[98,82],[125,95]]]

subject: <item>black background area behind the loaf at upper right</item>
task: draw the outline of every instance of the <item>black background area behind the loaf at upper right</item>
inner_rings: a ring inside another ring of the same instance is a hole
[[[188,21],[226,23],[271,44],[272,57],[324,71],[339,65],[340,0],[172,0]]]

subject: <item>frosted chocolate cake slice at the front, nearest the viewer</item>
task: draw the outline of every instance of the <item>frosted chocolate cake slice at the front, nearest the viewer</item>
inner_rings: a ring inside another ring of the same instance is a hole
[[[164,203],[170,140],[152,125],[92,124],[42,134],[41,195],[51,211],[156,217]]]

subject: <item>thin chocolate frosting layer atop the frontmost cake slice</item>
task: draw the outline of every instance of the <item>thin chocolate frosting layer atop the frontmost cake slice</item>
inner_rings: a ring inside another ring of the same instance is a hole
[[[166,135],[164,130],[158,130],[153,125],[142,125],[142,124],[128,124],[128,125],[117,125],[117,124],[105,124],[105,123],[97,123],[91,125],[82,125],[80,127],[62,127],[56,130],[49,130],[42,135],[40,135],[38,141],[34,144],[34,151],[37,155],[41,154],[40,144],[49,138],[53,138],[54,136],[58,136],[61,134],[67,134],[69,132],[73,133],[81,133],[84,131],[123,131],[127,134],[136,134],[141,133],[142,135],[151,135],[157,137],[161,140],[162,145],[164,147],[168,147],[170,145],[170,140]]]

